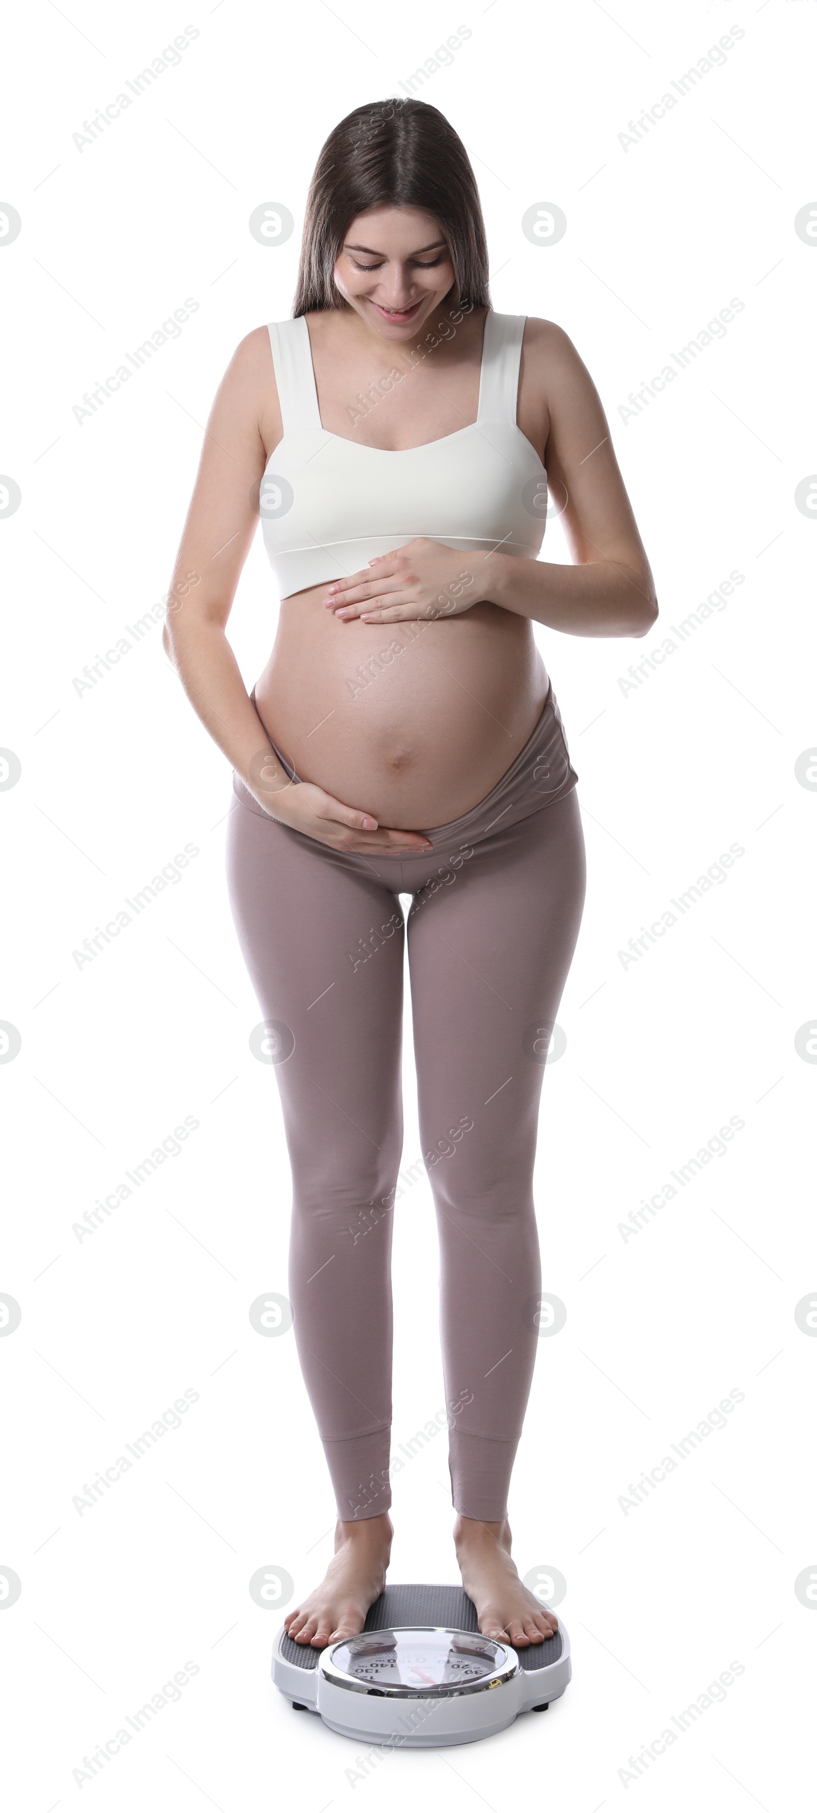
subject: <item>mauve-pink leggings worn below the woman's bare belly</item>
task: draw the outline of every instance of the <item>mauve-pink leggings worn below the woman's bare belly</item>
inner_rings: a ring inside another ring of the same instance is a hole
[[[553,691],[498,785],[417,856],[330,850],[234,774],[230,905],[277,1066],[293,1329],[344,1521],[391,1503],[406,928],[453,1503],[507,1512],[536,1358],[543,1062],[585,897],[576,780]]]

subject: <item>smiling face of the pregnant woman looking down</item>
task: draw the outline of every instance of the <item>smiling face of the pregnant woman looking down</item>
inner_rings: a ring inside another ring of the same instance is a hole
[[[341,247],[335,283],[380,339],[413,339],[455,283],[440,223],[426,208],[359,214]]]

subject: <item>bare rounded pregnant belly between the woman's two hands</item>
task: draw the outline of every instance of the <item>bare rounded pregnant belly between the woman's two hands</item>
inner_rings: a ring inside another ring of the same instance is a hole
[[[527,743],[547,694],[533,625],[493,604],[433,622],[341,622],[313,586],[281,604],[255,685],[303,781],[395,830],[460,818]]]

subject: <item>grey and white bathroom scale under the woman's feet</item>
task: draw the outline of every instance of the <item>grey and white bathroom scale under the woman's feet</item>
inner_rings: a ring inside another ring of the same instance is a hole
[[[281,1626],[272,1679],[295,1711],[319,1713],[341,1737],[435,1750],[545,1711],[571,1679],[571,1643],[560,1619],[553,1637],[513,1650],[482,1635],[462,1586],[386,1586],[360,1635],[326,1650]]]

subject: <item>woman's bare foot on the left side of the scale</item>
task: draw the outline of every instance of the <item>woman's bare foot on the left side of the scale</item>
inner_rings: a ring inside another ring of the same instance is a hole
[[[284,1617],[286,1632],[295,1643],[324,1650],[341,1637],[357,1637],[370,1605],[386,1586],[393,1534],[388,1512],[337,1525],[335,1554],[321,1586]]]

